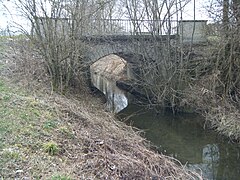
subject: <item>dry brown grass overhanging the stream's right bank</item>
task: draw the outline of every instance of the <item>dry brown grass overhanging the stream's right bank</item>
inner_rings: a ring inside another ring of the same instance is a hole
[[[240,142],[240,111],[239,100],[223,97],[215,92],[217,76],[205,76],[185,94],[186,102],[205,116],[209,128],[216,130],[235,142]],[[237,96],[239,96],[238,93]]]

